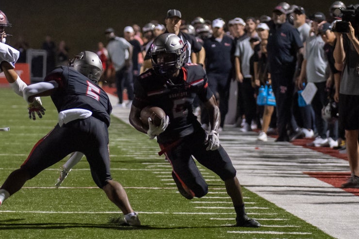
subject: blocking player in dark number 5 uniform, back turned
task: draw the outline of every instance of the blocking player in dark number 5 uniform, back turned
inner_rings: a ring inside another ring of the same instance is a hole
[[[35,144],[19,169],[12,172],[0,188],[0,205],[19,191],[25,182],[72,152],[81,152],[90,164],[99,188],[124,213],[125,223],[140,225],[122,185],[110,174],[109,135],[112,106],[97,85],[102,63],[96,53],[82,51],[69,66],[55,68],[39,82],[23,90],[32,103],[35,96],[51,96],[59,112],[59,123]]]

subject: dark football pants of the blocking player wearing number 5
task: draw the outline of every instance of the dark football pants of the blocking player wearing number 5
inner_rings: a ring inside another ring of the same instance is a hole
[[[95,117],[58,124],[40,141],[21,165],[33,178],[72,152],[82,152],[90,164],[91,175],[99,188],[112,179],[110,174],[107,125]]]

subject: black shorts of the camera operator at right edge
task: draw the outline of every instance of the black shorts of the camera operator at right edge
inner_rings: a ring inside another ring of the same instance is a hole
[[[359,96],[339,95],[339,120],[344,129],[359,129]]]

